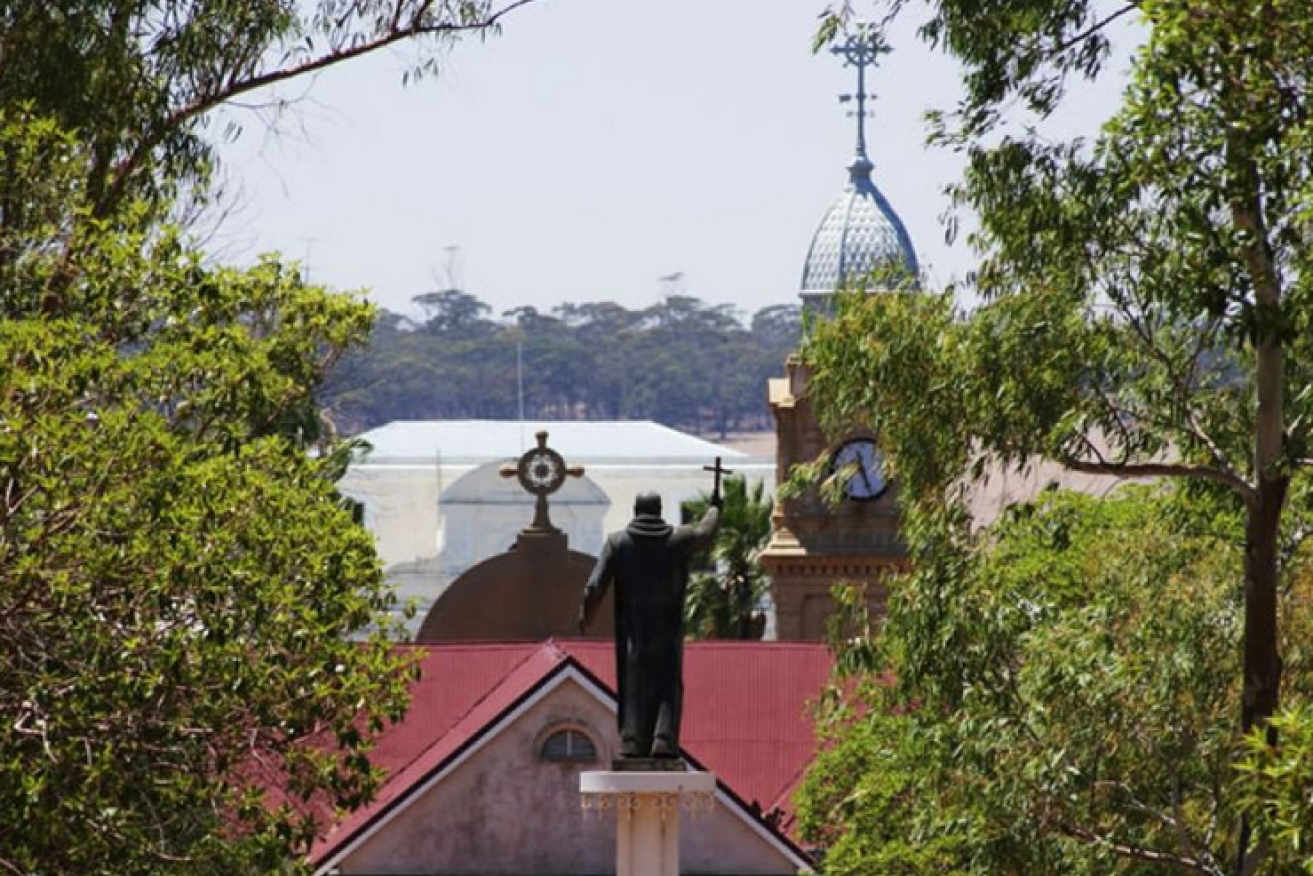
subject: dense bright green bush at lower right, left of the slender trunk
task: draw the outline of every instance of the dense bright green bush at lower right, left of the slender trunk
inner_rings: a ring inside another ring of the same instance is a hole
[[[801,813],[826,872],[1225,872],[1242,549],[1216,511],[1050,493],[895,579],[822,707]]]

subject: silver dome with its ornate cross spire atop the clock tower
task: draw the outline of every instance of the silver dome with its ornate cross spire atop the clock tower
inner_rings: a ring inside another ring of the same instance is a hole
[[[867,67],[874,64],[878,49],[860,33],[832,50],[848,66],[857,68],[856,99],[857,154],[848,164],[848,184],[826,210],[811,238],[807,260],[802,265],[802,299],[819,303],[835,290],[863,284],[871,277],[889,277],[906,271],[916,277],[916,252],[902,219],[889,206],[871,180],[872,164],[867,158]],[[868,292],[882,292],[877,280]]]

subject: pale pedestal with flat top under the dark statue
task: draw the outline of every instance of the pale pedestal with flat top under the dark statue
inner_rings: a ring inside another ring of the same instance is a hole
[[[588,812],[616,813],[616,876],[679,876],[680,812],[716,804],[710,772],[582,772]]]

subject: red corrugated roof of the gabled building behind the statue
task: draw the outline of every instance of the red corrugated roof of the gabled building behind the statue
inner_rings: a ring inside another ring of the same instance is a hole
[[[323,862],[474,743],[571,662],[614,691],[611,642],[550,640],[414,646],[423,653],[406,718],[370,755],[387,772],[378,797],[315,843]],[[572,661],[571,661],[572,658]],[[776,827],[793,821],[792,793],[814,753],[809,704],[831,667],[822,645],[689,642],[684,646],[683,747]]]

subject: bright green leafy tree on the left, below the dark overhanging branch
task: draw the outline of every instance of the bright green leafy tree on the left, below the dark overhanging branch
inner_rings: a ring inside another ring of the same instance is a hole
[[[407,699],[318,433],[372,309],[93,218],[84,148],[0,113],[0,864],[295,869]]]

